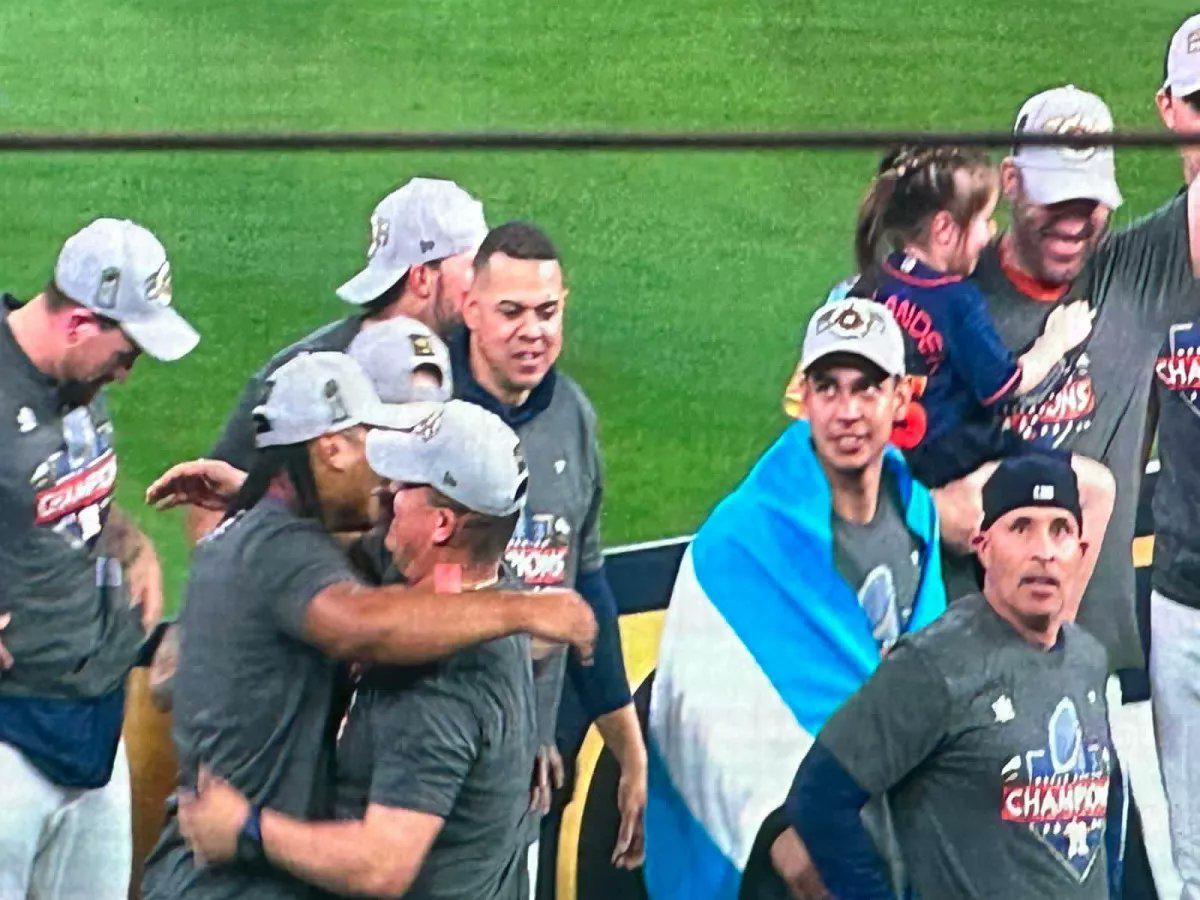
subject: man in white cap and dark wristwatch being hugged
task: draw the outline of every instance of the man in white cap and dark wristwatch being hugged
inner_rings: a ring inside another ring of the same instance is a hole
[[[422,407],[414,427],[372,432],[367,460],[388,479],[396,568],[414,588],[445,582],[456,614],[467,592],[497,582],[528,472],[498,416]],[[338,894],[526,900],[535,751],[528,640],[503,637],[420,672],[367,671],[338,738],[332,821],[251,808],[217,779],[180,815],[214,863],[258,816],[272,865]]]

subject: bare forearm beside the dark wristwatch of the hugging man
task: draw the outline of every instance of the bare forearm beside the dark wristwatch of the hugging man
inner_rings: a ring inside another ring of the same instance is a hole
[[[263,810],[263,848],[278,869],[337,894],[394,893],[378,874],[378,851],[361,820],[302,822]]]

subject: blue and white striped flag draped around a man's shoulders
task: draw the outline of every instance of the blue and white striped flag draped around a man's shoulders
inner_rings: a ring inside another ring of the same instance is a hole
[[[887,448],[922,542],[907,630],[946,610],[932,498]],[[646,882],[653,900],[734,900],[755,836],[880,644],[833,558],[829,484],[793,424],[684,556],[650,700]]]

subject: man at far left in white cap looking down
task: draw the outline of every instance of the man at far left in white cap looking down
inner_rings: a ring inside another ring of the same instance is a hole
[[[161,613],[162,572],[113,505],[103,388],[143,352],[176,360],[196,347],[170,301],[158,240],[100,218],[66,241],[37,296],[0,311],[2,896],[128,890],[124,685]]]

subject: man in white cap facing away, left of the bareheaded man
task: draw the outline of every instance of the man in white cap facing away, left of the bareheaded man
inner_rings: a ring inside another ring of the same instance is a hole
[[[254,403],[266,377],[298,353],[343,352],[360,332],[398,316],[443,337],[452,331],[462,322],[470,263],[486,233],[482,204],[454,181],[414,178],[388,194],[371,215],[366,266],[337,289],[358,311],[275,354],[247,383],[209,456],[250,468]],[[218,520],[193,506],[188,535],[194,541]]]

